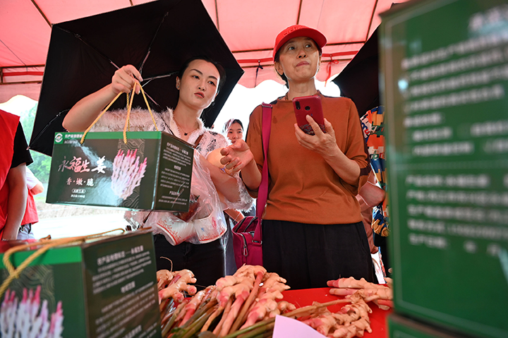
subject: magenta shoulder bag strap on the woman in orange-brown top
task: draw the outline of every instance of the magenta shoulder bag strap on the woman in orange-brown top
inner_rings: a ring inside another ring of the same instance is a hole
[[[263,168],[261,172],[261,183],[258,190],[258,201],[256,202],[256,217],[261,221],[261,216],[265,211],[265,205],[268,199],[268,145],[270,144],[270,131],[272,129],[272,104],[263,102],[262,116],[261,116],[261,138],[263,155],[265,157],[263,161]],[[262,243],[262,230],[261,222],[258,222],[258,227],[254,231],[254,243]]]

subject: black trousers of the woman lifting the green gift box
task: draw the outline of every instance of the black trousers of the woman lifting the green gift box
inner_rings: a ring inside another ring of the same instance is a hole
[[[164,235],[154,235],[157,270],[188,269],[198,279],[195,283],[198,289],[214,285],[217,279],[226,275],[226,248],[223,240],[223,238],[216,239],[205,244],[183,242],[177,246],[171,246]],[[171,260],[172,266],[166,258]]]

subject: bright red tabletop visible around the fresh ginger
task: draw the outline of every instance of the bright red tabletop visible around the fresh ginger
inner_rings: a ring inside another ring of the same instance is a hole
[[[297,308],[312,305],[315,301],[318,303],[326,303],[344,298],[343,296],[329,294],[330,289],[331,288],[329,287],[324,287],[320,289],[287,290],[282,294],[284,295],[284,301],[293,303]],[[336,312],[344,305],[346,305],[346,303],[329,306],[329,310]],[[387,315],[391,313],[392,310],[381,310],[372,302],[368,303],[368,306],[373,310],[373,313],[369,314],[370,327],[373,332],[368,333],[365,331],[365,335],[363,337],[387,338]]]

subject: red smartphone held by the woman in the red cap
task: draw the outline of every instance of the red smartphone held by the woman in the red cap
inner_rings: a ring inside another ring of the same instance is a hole
[[[308,123],[306,116],[310,115],[319,124],[323,133],[325,131],[325,119],[322,116],[321,97],[318,95],[295,97],[293,108],[296,116],[296,123],[304,133],[314,135],[313,128]]]

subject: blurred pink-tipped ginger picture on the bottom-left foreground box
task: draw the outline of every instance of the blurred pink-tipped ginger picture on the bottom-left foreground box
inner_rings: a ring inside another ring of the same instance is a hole
[[[0,308],[0,337],[5,338],[61,338],[63,332],[63,309],[61,301],[56,311],[49,315],[47,300],[40,299],[41,286],[37,289],[23,288],[23,299],[16,292],[6,291]]]

